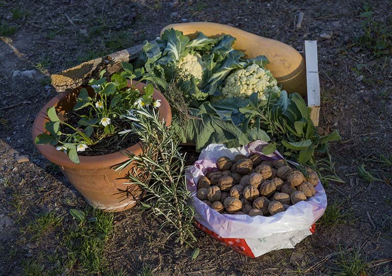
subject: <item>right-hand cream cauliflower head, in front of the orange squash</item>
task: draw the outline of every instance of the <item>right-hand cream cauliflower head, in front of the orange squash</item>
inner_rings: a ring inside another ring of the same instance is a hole
[[[259,99],[266,101],[270,93],[279,93],[277,81],[270,70],[265,70],[257,64],[251,64],[244,69],[231,73],[222,88],[223,98],[247,98],[252,93],[259,92]]]

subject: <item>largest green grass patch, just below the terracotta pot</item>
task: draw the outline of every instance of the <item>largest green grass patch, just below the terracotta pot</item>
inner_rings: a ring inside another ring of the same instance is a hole
[[[61,242],[68,252],[66,267],[87,274],[108,271],[103,256],[106,242],[113,231],[113,214],[88,208],[85,217],[75,227],[70,227]]]

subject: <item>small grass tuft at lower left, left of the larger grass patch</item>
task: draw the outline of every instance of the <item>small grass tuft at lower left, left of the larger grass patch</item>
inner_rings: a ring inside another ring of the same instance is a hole
[[[26,227],[28,233],[33,234],[32,239],[40,237],[42,234],[55,229],[63,218],[55,214],[55,212],[45,212],[39,214],[37,218]]]

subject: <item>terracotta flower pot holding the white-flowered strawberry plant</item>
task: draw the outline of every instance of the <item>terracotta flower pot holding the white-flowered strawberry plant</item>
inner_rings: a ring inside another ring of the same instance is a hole
[[[128,82],[128,86],[130,86],[130,82]],[[139,83],[135,86],[142,91],[145,84]],[[76,97],[81,88],[58,94],[42,107],[33,124],[33,140],[37,135],[46,132],[45,123],[49,121],[47,109],[50,106],[55,106],[59,112],[70,111],[76,103]],[[154,90],[152,97],[155,100],[161,100],[159,116],[169,126],[172,122],[172,111],[168,101],[157,90]],[[47,144],[35,145],[35,147],[49,161],[59,166],[73,187],[92,206],[105,212],[119,212],[132,208],[140,197],[141,189],[137,185],[124,184],[126,182],[124,176],[132,168],[132,164],[121,172],[115,171],[117,165],[127,160],[127,157],[120,151],[100,156],[79,156],[80,164],[75,164],[66,153],[56,150],[54,146]],[[124,151],[140,154],[142,153],[142,144],[139,142]]]

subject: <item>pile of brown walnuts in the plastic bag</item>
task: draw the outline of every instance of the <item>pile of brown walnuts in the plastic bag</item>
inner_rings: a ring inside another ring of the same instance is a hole
[[[197,182],[197,197],[220,213],[269,216],[286,211],[290,205],[315,195],[317,174],[307,177],[287,166],[284,160],[262,161],[253,153],[235,160],[218,159],[218,171]]]

